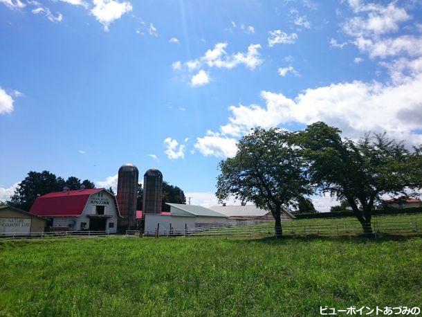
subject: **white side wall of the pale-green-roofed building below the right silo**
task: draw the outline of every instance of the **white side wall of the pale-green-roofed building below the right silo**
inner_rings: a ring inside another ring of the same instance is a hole
[[[176,231],[184,233],[185,225],[188,228],[194,228],[195,217],[145,214],[145,235],[155,235],[158,224],[160,224],[160,230],[169,230],[170,224],[172,224],[175,233]]]

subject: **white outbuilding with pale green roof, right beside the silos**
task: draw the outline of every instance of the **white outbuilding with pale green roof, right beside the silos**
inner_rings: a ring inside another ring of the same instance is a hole
[[[167,203],[170,212],[145,214],[145,234],[153,235],[156,229],[183,232],[185,228],[226,224],[228,217],[202,206]]]

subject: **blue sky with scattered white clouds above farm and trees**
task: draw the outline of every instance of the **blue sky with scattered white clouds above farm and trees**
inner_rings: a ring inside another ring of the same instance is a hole
[[[421,17],[414,0],[0,0],[0,199],[29,170],[108,187],[130,162],[207,205],[256,126],[420,144]]]

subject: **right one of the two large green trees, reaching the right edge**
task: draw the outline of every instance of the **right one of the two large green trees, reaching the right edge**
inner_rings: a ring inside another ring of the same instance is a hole
[[[364,232],[371,233],[371,210],[381,196],[421,188],[421,149],[407,150],[384,134],[358,141],[340,134],[335,127],[314,123],[296,134],[294,145],[302,149],[315,188],[346,200]]]

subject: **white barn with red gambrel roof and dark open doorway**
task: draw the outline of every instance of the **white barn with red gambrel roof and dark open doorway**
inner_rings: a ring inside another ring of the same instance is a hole
[[[63,190],[37,197],[30,213],[52,220],[53,230],[116,233],[120,212],[116,197],[104,188]]]

